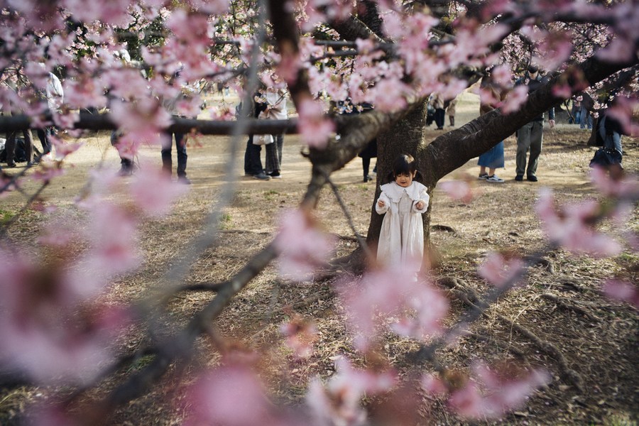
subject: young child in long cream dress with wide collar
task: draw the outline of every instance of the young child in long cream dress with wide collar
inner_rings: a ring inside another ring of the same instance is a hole
[[[414,179],[418,175],[415,158],[401,154],[395,159],[393,181],[381,186],[381,195],[375,204],[378,214],[385,214],[377,260],[385,265],[400,264],[418,272],[424,256],[424,224],[430,197],[427,187]],[[390,180],[390,179],[389,179]]]

